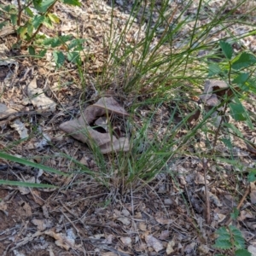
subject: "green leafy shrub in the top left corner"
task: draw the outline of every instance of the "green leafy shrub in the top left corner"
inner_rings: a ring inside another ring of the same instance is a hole
[[[73,6],[81,5],[79,0],[26,0],[23,4],[18,1],[18,6],[0,5],[0,15],[3,17],[0,29],[4,26],[13,26],[18,35],[14,47],[26,47],[30,55],[44,57],[47,49],[55,49],[53,56],[57,67],[64,64],[65,58],[79,64],[79,51],[84,39],[73,39],[70,35],[46,38],[45,35],[38,34],[43,26],[53,29],[54,24],[60,22],[58,16],[51,13],[58,2]],[[58,49],[60,46],[67,50],[66,56],[63,50]]]

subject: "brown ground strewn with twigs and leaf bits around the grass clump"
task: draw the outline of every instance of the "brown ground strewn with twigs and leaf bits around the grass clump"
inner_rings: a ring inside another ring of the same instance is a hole
[[[88,1],[85,4],[86,12],[79,17],[87,19],[86,22],[83,20],[81,31],[85,38],[90,38],[91,58],[85,64],[90,75],[86,77],[88,84],[84,92],[85,99],[90,100],[95,93],[90,82],[93,74],[101,70],[106,57],[104,50],[99,49],[103,49],[102,31],[108,27],[108,22],[102,23],[101,17],[105,21],[110,20],[110,8],[103,3],[96,6],[102,11],[102,16],[99,16],[93,9],[93,3]],[[76,22],[68,22],[70,17],[78,16],[78,11],[61,5],[56,7],[56,12],[64,20],[59,27],[61,32],[75,30]],[[115,9],[115,15],[121,29],[128,15],[118,9]],[[134,29],[138,27],[135,25]],[[127,35],[127,40],[129,37],[131,34]],[[8,36],[3,41],[3,44],[11,45],[15,36]],[[250,47],[253,48],[253,44]],[[20,53],[9,51],[7,55],[14,57]],[[239,160],[244,168],[215,159],[203,166],[199,157],[189,154],[189,150],[192,153],[207,150],[203,136],[195,137],[195,144],[184,149],[183,158],[168,163],[163,173],[143,188],[141,183],[133,189],[114,185],[106,188],[84,170],[76,172],[74,167],[77,166],[64,155],[70,155],[92,172],[99,172],[89,148],[71,137],[64,137],[59,130],[63,121],[79,116],[80,108],[88,105],[88,102],[80,101],[83,84],[79,82],[75,67],[68,63],[67,69],[58,73],[50,61],[16,60],[19,68],[15,79],[9,82],[8,90],[4,79],[9,69],[15,72],[15,64],[9,68],[0,67],[1,103],[20,113],[8,121],[0,117],[0,122],[3,122],[0,149],[9,149],[9,154],[22,155],[62,172],[74,172],[74,175],[60,177],[0,160],[0,179],[27,182],[38,179],[41,183],[61,188],[15,189],[2,186],[1,255],[214,255],[218,253],[212,247],[216,238],[214,231],[230,223],[230,212],[239,202],[241,213],[234,224],[242,231],[247,246],[256,247],[255,189],[241,176],[241,172],[248,172],[248,167],[255,167],[253,148],[236,141],[233,158]],[[47,115],[33,112],[34,107],[26,101],[26,87],[35,76],[38,77],[38,88],[44,88],[45,95],[57,104],[55,111]],[[104,94],[113,95],[113,92]],[[120,102],[119,96],[116,98]],[[124,100],[123,104],[125,106]],[[247,108],[255,113],[255,102]],[[26,113],[21,113],[24,110]],[[143,111],[147,113],[148,109]],[[168,111],[170,106],[166,104],[159,109],[159,116],[165,113],[167,118],[171,114]],[[17,118],[25,124],[31,136],[25,142],[20,141],[20,134],[12,126]],[[254,142],[254,131],[247,131],[242,125],[239,128],[247,133],[248,141]],[[50,137],[50,143],[45,143],[44,137]],[[219,147],[217,155],[225,158],[230,155],[230,149]],[[113,184],[119,183],[114,178]]]

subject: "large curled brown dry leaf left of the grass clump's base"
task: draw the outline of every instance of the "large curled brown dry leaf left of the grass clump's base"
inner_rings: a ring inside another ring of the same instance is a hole
[[[128,151],[130,144],[128,138],[119,139],[109,133],[101,133],[90,125],[103,115],[116,113],[122,116],[129,115],[125,109],[119,106],[113,97],[103,97],[94,105],[85,108],[79,119],[73,119],[60,125],[62,131],[67,132],[82,143],[94,142],[101,149],[102,154],[109,152]]]

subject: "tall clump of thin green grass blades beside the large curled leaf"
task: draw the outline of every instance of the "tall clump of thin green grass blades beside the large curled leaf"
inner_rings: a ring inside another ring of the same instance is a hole
[[[253,35],[253,30],[236,35],[230,27],[249,23],[246,20],[256,7],[244,10],[246,0],[233,6],[226,1],[218,8],[204,0],[196,4],[195,7],[192,0],[182,3],[137,0],[119,34],[112,16],[104,42],[108,61],[102,73],[94,78],[96,90],[105,90],[102,84],[111,86],[114,81],[118,94],[134,100],[129,107],[131,118],[124,120],[131,151],[106,157],[92,146],[100,169],[96,176],[103,183],[111,185],[114,180],[115,186],[125,188],[125,184],[154,179],[170,160],[183,154],[215,111],[213,108],[204,114],[196,125],[189,124],[199,108],[196,104],[189,107],[191,96],[199,94],[209,77],[209,64],[224,58],[219,40],[241,45],[242,38]],[[114,8],[113,1],[112,5]],[[87,74],[83,70],[79,66],[84,81]],[[223,79],[218,73],[212,78]],[[140,96],[143,102],[137,100]],[[140,112],[142,108],[149,108],[146,115]],[[158,112],[163,108],[169,114],[160,123]],[[184,128],[188,130],[185,134]]]

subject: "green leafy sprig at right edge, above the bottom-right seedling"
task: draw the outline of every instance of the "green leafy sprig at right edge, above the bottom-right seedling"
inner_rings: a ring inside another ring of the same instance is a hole
[[[211,63],[209,65],[209,77],[219,76],[224,81],[227,81],[228,88],[225,89],[225,94],[222,96],[221,102],[221,104],[225,106],[224,112],[227,108],[230,108],[231,117],[238,122],[245,122],[253,131],[254,125],[250,118],[251,114],[248,113],[241,102],[245,100],[250,93],[256,93],[256,56],[245,51],[235,55],[232,45],[224,41],[220,41],[219,46],[222,49],[225,59],[220,63]],[[237,137],[243,138],[241,132],[238,131],[234,125],[222,125],[230,129]],[[224,143],[229,146],[227,143],[230,143],[230,141]],[[254,182],[255,180],[256,170],[250,168],[248,181]]]

